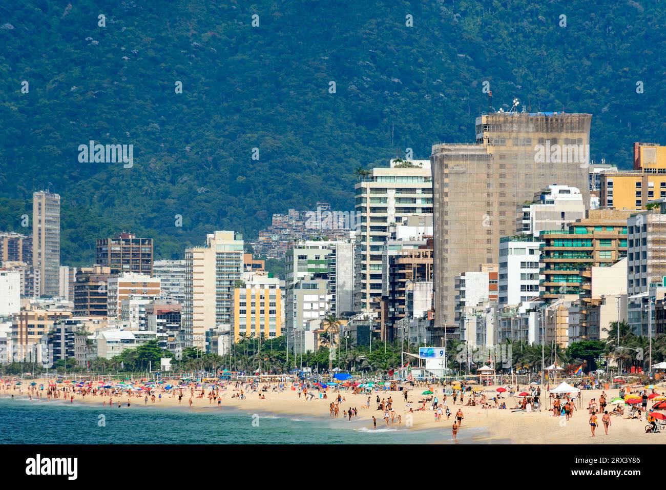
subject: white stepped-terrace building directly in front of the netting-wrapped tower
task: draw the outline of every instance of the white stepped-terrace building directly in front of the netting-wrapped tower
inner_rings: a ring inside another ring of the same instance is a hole
[[[521,207],[516,231],[539,237],[544,230],[562,230],[585,217],[585,201],[577,187],[549,185]]]

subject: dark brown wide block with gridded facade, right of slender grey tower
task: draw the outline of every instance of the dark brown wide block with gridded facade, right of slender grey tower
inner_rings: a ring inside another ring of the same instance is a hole
[[[111,268],[111,273],[137,272],[153,275],[153,239],[138,238],[132,233],[97,240],[98,265]]]

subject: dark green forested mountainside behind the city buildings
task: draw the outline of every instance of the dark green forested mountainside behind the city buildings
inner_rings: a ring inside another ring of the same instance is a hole
[[[32,192],[48,187],[62,196],[62,261],[81,265],[121,229],[179,257],[214,229],[255,236],[289,207],[349,210],[357,167],[473,141],[484,81],[496,109],[518,97],[530,111],[592,113],[593,159],[627,167],[633,141],[666,143],[665,7],[4,2],[0,229],[21,231]],[[134,166],[80,163],[91,140],[134,145]]]

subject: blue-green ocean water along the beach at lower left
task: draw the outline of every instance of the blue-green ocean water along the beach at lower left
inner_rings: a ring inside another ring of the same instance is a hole
[[[103,415],[103,417],[100,417]],[[64,401],[0,398],[0,444],[430,444],[452,443],[442,430],[396,425],[372,429],[369,417],[294,417],[217,407],[196,412],[156,405],[91,407]],[[473,442],[482,429],[458,433]]]

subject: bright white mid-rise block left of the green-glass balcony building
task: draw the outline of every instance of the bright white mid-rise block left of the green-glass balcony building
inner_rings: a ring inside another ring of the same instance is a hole
[[[539,247],[532,235],[500,239],[498,303],[517,306],[539,296]]]

